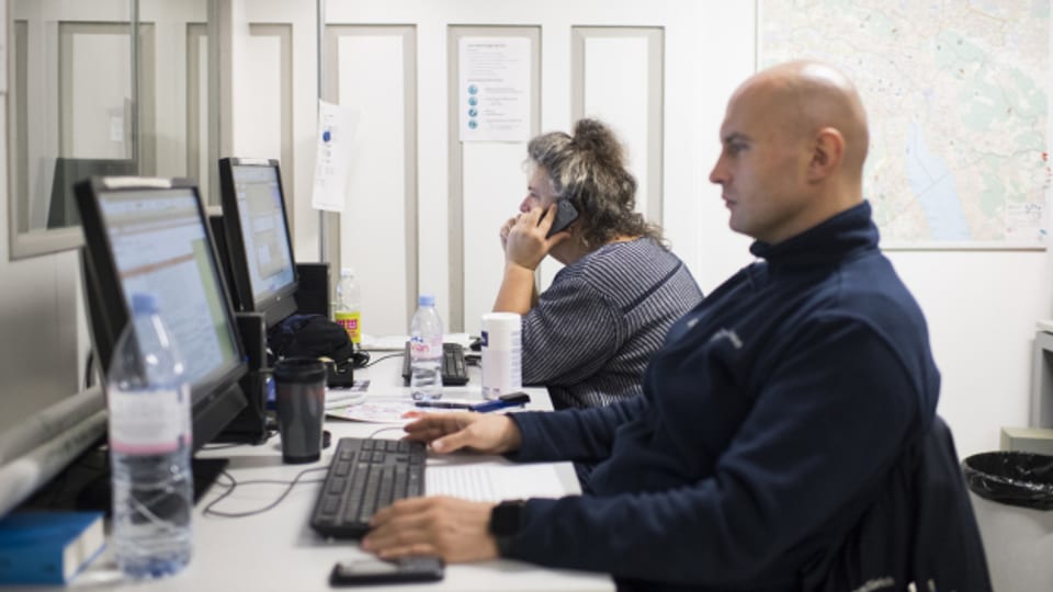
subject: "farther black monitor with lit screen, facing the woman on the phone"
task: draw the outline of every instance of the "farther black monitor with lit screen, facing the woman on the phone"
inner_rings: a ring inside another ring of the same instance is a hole
[[[276,160],[219,160],[223,227],[235,306],[274,327],[296,311],[299,283]]]

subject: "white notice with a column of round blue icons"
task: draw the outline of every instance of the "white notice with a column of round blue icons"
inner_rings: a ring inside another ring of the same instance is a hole
[[[461,141],[530,139],[530,39],[462,37]]]

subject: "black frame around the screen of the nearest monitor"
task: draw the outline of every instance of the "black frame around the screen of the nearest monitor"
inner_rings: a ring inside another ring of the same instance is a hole
[[[92,348],[99,361],[99,375],[105,384],[106,369],[113,358],[113,350],[132,315],[113,254],[107,226],[102,216],[99,195],[158,190],[190,190],[193,194],[199,221],[208,240],[216,285],[222,293],[219,299],[234,337],[235,355],[231,356],[231,361],[191,385],[193,449],[197,451],[218,435],[246,407],[247,401],[239,380],[248,373],[248,364],[234,309],[230,306],[229,291],[223,277],[215,239],[212,236],[197,186],[192,180],[92,177],[75,185],[84,234],[81,261],[84,267],[86,309],[90,317],[90,333]]]

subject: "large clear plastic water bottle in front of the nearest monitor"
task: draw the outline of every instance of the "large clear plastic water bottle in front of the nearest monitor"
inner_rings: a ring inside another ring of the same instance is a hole
[[[134,294],[106,380],[113,544],[135,579],[190,561],[193,477],[190,385],[152,294]]]

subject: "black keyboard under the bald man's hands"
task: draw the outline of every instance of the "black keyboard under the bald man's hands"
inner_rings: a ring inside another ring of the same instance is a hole
[[[341,437],[310,527],[322,536],[361,538],[377,510],[424,494],[426,457],[420,442]]]

